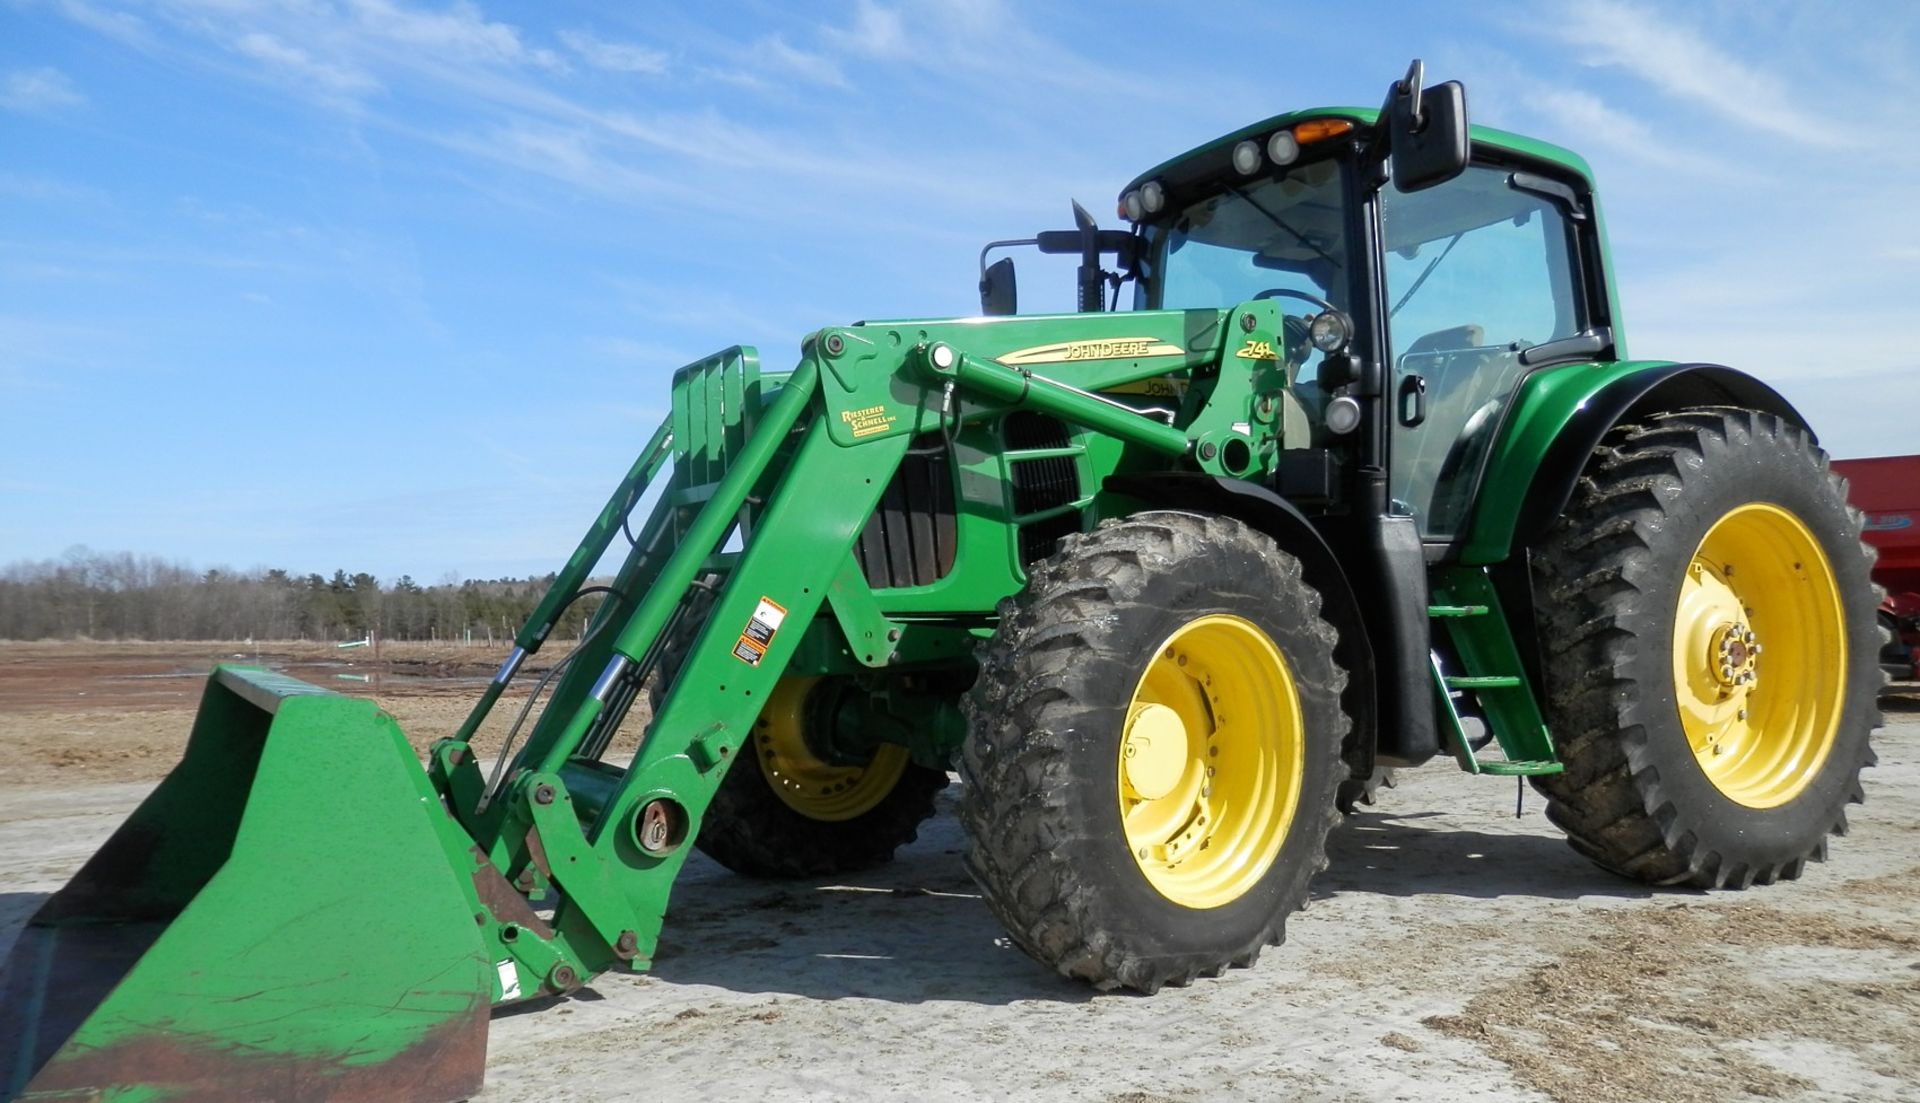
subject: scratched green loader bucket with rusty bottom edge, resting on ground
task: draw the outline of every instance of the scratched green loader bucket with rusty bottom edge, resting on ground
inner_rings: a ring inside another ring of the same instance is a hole
[[[447,822],[374,703],[217,667],[0,965],[0,1101],[472,1095],[495,980]]]

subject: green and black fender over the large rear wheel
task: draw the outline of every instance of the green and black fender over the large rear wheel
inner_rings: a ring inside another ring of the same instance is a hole
[[[1567,509],[1594,448],[1622,421],[1688,405],[1807,419],[1747,373],[1718,363],[1622,359],[1548,367],[1521,380],[1459,544],[1467,565],[1501,563]]]

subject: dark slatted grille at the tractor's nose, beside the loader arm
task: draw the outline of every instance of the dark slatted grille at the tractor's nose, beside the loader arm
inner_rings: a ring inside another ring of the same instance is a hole
[[[941,436],[914,440],[866,519],[854,557],[876,590],[927,586],[954,569],[954,477]]]

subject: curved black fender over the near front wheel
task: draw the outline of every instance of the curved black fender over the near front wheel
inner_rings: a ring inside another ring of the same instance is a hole
[[[1336,657],[1348,673],[1340,703],[1354,719],[1354,730],[1340,753],[1356,778],[1371,774],[1379,740],[1373,642],[1340,557],[1306,513],[1265,486],[1200,473],[1112,475],[1104,490],[1164,509],[1192,509],[1244,521],[1300,559],[1308,584],[1321,594],[1321,615],[1340,632]]]

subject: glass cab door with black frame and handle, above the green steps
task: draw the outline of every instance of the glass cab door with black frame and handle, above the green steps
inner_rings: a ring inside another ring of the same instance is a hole
[[[1496,163],[1419,192],[1380,188],[1388,490],[1427,544],[1463,527],[1501,415],[1536,367],[1528,350],[1590,332],[1576,202],[1567,184]]]

